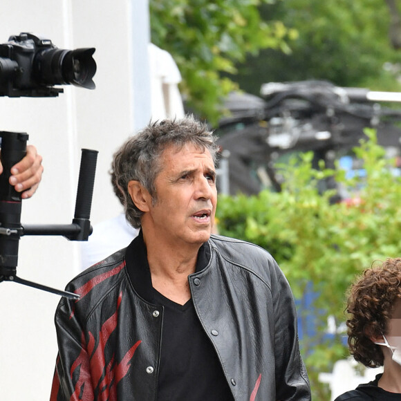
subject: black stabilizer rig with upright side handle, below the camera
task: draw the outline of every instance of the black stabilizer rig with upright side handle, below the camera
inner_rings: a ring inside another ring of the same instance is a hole
[[[10,169],[26,154],[27,133],[0,131],[0,282],[13,281],[39,290],[79,299],[72,292],[56,290],[17,276],[19,239],[24,235],[62,235],[71,241],[87,241],[92,232],[89,217],[95,180],[97,151],[82,149],[80,177],[73,222],[65,225],[21,225],[21,194],[8,183]]]

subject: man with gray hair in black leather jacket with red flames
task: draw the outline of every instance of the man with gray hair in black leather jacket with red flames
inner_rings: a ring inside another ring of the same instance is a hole
[[[68,284],[51,400],[310,400],[292,293],[265,250],[212,234],[218,147],[191,115],[115,153],[131,244]]]

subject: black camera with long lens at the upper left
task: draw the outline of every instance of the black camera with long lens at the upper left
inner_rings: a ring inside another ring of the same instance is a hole
[[[59,49],[50,39],[28,32],[0,44],[0,96],[55,97],[54,85],[94,89],[95,48]]]

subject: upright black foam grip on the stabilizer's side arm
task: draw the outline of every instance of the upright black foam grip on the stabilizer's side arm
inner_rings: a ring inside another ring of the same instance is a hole
[[[97,151],[82,149],[80,178],[78,179],[75,218],[88,219],[91,216],[93,184],[95,183]]]

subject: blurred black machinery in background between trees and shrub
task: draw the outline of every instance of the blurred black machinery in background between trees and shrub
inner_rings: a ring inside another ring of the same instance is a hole
[[[230,194],[281,191],[282,177],[274,168],[290,153],[313,151],[316,165],[327,167],[366,138],[365,127],[377,130],[377,142],[401,153],[401,109],[382,106],[401,102],[401,93],[344,88],[326,81],[270,82],[261,97],[231,93],[225,100],[230,115],[216,133],[221,149],[230,153]],[[333,178],[327,188],[335,188]]]

